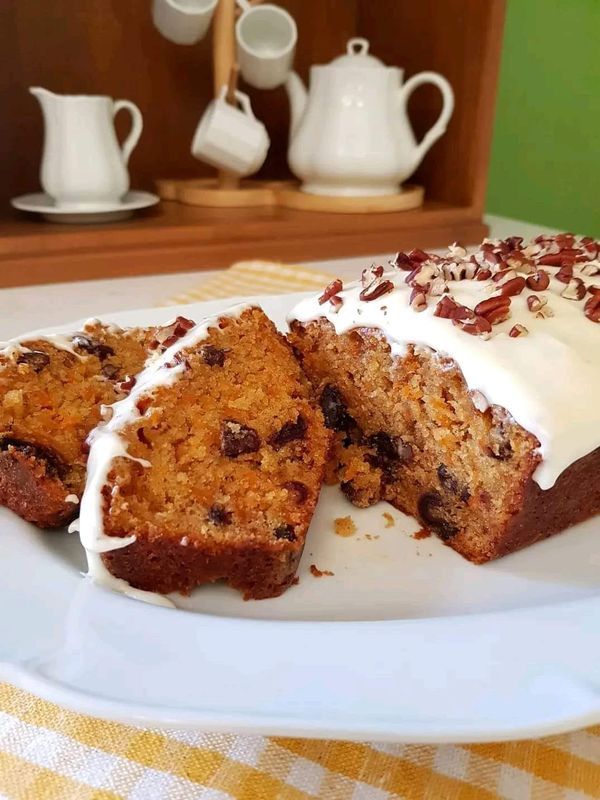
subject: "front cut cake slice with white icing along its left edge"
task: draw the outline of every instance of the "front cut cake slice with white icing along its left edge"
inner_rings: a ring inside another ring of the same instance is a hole
[[[312,388],[258,307],[180,319],[154,344],[90,437],[90,574],[160,594],[223,579],[245,598],[277,596],[295,579],[331,442]]]

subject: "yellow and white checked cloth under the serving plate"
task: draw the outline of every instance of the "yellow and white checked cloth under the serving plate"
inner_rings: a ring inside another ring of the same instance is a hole
[[[243,262],[170,303],[318,289],[330,276]],[[485,745],[143,730],[0,684],[0,800],[587,800],[600,726]]]

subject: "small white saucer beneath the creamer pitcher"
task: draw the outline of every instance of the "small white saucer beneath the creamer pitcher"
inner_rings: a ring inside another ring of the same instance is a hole
[[[96,222],[118,222],[128,219],[134,211],[159,203],[160,197],[151,192],[127,192],[125,197],[113,206],[102,204],[98,208],[90,206],[83,210],[76,205],[63,205],[59,208],[55,205],[54,200],[44,192],[23,194],[20,197],[13,197],[10,202],[19,211],[41,214],[48,222],[88,225]]]

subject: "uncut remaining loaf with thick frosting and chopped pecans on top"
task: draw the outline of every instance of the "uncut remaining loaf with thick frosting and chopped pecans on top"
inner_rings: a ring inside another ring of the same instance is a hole
[[[386,500],[476,563],[600,513],[597,241],[398,253],[289,322],[355,505]]]

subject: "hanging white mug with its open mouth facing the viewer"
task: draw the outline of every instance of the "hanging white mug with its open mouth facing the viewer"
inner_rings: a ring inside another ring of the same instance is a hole
[[[235,26],[238,63],[244,80],[256,89],[285,83],[294,62],[298,29],[279,6],[251,6],[237,0],[242,15]]]

